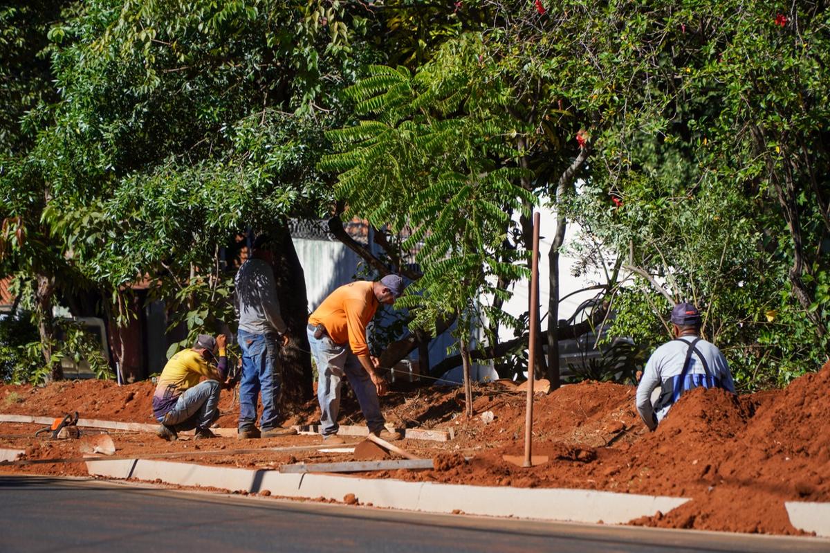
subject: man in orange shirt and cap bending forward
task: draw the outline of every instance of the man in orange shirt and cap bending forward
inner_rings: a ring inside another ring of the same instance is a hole
[[[320,433],[325,443],[344,443],[337,435],[340,384],[349,379],[363,411],[369,432],[388,441],[401,435],[384,428],[378,395],[386,393],[386,381],[377,360],[369,355],[366,325],[381,303],[389,306],[403,294],[403,279],[383,276],[379,281],[356,281],[331,292],[309,317],[311,355],[317,364],[317,399],[320,401]]]

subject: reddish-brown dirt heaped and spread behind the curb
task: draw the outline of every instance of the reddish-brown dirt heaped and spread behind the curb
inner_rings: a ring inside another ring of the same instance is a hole
[[[525,399],[497,385],[476,389],[473,418],[461,415],[457,389],[411,388],[382,399],[389,422],[397,426],[454,428],[448,443],[402,443],[413,453],[433,458],[438,469],[423,472],[374,472],[371,477],[514,487],[579,487],[615,492],[691,497],[668,513],[634,524],[702,530],[798,534],[789,524],[784,501],[830,501],[830,364],[795,380],[787,389],[735,397],[720,390],[696,389],[684,395],[657,428],[648,432],[634,409],[634,389],[585,382],[537,396],[534,453],[547,464],[520,468],[503,454],[523,451]],[[84,418],[153,422],[153,386],[118,387],[81,381],[44,389],[0,386],[0,413],[59,416],[79,411]],[[238,406],[222,393],[223,427],[236,425]],[[481,414],[493,414],[485,423]],[[290,423],[314,423],[319,410],[312,399],[294,409]],[[363,423],[353,398],[344,398],[341,423]],[[0,425],[0,433],[10,433]],[[314,437],[278,438],[269,445],[313,443]],[[37,444],[36,444],[37,445]],[[69,446],[42,444],[32,457],[47,458]],[[187,451],[193,443],[168,444],[149,435],[125,436],[128,452]],[[0,447],[3,447],[0,439]],[[6,445],[5,447],[10,447]],[[207,447],[207,446],[203,446]],[[319,455],[243,455],[239,448],[256,441],[222,438],[211,448],[227,448],[227,458],[193,458],[232,466],[274,467],[280,462],[347,460]],[[459,462],[463,453],[471,462]],[[50,455],[51,454],[51,455]],[[46,465],[44,467],[53,467]],[[54,466],[55,470],[65,467]]]

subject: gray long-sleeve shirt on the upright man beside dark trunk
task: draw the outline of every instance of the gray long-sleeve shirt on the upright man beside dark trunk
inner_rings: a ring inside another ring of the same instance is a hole
[[[274,270],[267,262],[252,257],[242,263],[234,279],[234,307],[240,330],[251,334],[285,333],[280,302],[276,299]]]

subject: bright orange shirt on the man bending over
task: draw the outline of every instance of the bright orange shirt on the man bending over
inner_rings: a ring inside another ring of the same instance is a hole
[[[349,344],[354,355],[369,355],[366,325],[378,311],[371,281],[356,281],[330,293],[309,316],[309,324],[323,325],[335,344]]]

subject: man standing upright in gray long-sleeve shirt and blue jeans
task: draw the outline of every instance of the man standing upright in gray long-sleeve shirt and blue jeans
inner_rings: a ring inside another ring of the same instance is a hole
[[[251,257],[239,268],[235,279],[234,306],[239,318],[237,340],[242,350],[239,382],[239,438],[272,438],[295,434],[280,425],[282,374],[278,352],[288,343],[286,322],[276,298],[274,257],[268,237],[254,242]],[[260,428],[256,428],[256,400],[262,395]]]

